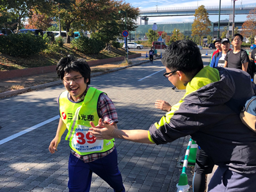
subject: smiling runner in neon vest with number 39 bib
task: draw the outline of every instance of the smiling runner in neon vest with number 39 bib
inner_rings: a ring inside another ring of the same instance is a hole
[[[49,145],[57,150],[61,136],[68,129],[66,140],[71,148],[68,161],[70,192],[90,191],[92,173],[105,180],[115,192],[124,192],[122,175],[117,166],[115,140],[95,140],[89,127],[99,119],[117,129],[116,109],[106,93],[89,87],[91,69],[85,60],[61,58],[57,73],[66,88],[58,98],[60,121],[55,138]],[[91,124],[90,124],[91,122]]]

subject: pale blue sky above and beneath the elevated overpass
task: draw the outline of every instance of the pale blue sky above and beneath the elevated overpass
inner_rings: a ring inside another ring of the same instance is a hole
[[[154,8],[168,8],[168,7],[189,7],[189,6],[219,6],[220,1],[218,0],[125,0],[126,3],[131,3],[132,6],[138,7],[140,9]],[[238,0],[236,5],[246,5],[246,4],[256,4],[256,0]],[[221,6],[233,6],[233,1],[231,0],[221,0]],[[193,16],[184,17],[149,17],[148,23],[151,22],[193,22]],[[228,15],[221,15],[220,19],[228,19]],[[218,15],[209,16],[212,22],[218,21]],[[246,20],[246,15],[236,15],[235,21]]]

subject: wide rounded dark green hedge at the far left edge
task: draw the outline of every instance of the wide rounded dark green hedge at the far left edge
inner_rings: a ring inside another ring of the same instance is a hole
[[[0,36],[0,52],[11,56],[28,57],[47,48],[42,36],[32,33]]]

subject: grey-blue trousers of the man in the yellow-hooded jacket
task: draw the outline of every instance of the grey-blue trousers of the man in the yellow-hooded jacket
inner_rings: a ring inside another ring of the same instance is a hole
[[[236,173],[227,166],[218,166],[209,185],[208,192],[253,192],[256,191],[255,173]]]

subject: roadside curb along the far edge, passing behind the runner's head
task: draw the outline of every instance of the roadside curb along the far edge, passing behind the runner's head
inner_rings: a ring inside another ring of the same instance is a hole
[[[157,60],[159,58],[161,58],[161,57],[157,57],[157,58],[155,58],[155,60]],[[133,66],[136,66],[136,65],[141,65],[141,64],[147,63],[147,62],[148,62],[148,60],[145,60],[145,61],[141,61],[141,62],[138,62],[138,63],[134,63],[132,65],[127,65],[127,66],[124,66],[124,67],[113,68],[113,69],[107,70],[105,72],[96,72],[96,73],[92,74],[91,77],[101,76],[101,75],[104,75],[104,74],[108,74],[108,73],[111,73],[111,72],[122,70],[124,68],[133,67]],[[47,88],[49,86],[54,86],[54,85],[58,85],[58,84],[62,84],[62,81],[58,80],[58,81],[53,81],[53,82],[50,82],[50,83],[38,84],[38,85],[35,85],[35,86],[30,86],[28,88],[22,88],[20,90],[10,90],[10,91],[7,91],[7,92],[0,93],[0,98],[8,97],[10,95],[18,95],[20,93],[26,93],[26,92],[29,92],[31,90],[36,90],[36,89],[40,89],[40,88]]]

